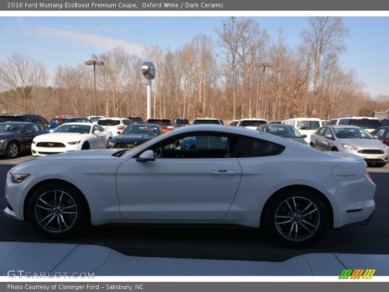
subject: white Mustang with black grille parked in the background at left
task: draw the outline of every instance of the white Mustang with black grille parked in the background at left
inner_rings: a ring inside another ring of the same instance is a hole
[[[67,123],[48,134],[36,136],[31,145],[34,156],[44,156],[75,150],[106,148],[112,137],[99,125]]]

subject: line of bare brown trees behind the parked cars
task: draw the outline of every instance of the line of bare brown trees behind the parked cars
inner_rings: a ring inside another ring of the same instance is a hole
[[[388,110],[389,97],[371,98],[353,70],[341,66],[350,30],[338,17],[313,17],[301,31],[301,44],[285,43],[283,31],[272,40],[258,21],[225,19],[217,39],[197,35],[176,50],[144,47],[143,56],[115,47],[94,60],[97,114],[146,115],[144,60],[154,62],[154,117],[291,117],[330,119]],[[94,112],[93,70],[85,64],[56,68],[48,86],[45,66],[13,53],[0,63],[0,104],[14,113],[88,116]]]

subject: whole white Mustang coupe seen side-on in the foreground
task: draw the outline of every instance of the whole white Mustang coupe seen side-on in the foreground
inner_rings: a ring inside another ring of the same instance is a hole
[[[9,217],[49,237],[85,223],[237,224],[292,246],[326,225],[366,224],[375,184],[362,157],[246,128],[193,125],[140,146],[53,154],[13,167]]]

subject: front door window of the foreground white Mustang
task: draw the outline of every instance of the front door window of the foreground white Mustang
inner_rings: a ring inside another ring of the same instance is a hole
[[[233,155],[235,145],[225,136],[198,134],[181,136],[166,141],[152,149],[156,158],[227,158]],[[227,146],[227,144],[230,144]]]

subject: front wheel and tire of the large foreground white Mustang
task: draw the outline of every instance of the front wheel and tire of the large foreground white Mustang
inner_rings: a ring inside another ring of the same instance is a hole
[[[39,187],[28,203],[28,218],[35,230],[53,239],[69,238],[86,223],[81,194],[64,183]],[[65,210],[65,211],[64,211]]]

